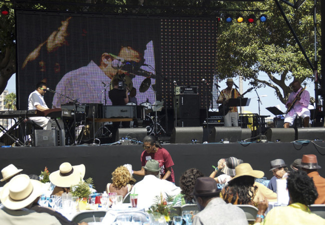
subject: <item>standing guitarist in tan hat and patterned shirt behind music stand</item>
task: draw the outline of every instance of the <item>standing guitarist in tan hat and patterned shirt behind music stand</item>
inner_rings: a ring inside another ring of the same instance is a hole
[[[233,89],[233,79],[228,78],[225,82],[227,85],[227,88],[221,90],[217,103],[221,103],[223,105],[226,105],[229,98],[237,98],[240,96],[237,89]],[[220,114],[223,114],[223,110],[219,111]],[[224,126],[231,126],[231,123],[233,123],[233,126],[238,126],[238,109],[237,107],[230,107],[228,112],[225,112],[224,115]]]

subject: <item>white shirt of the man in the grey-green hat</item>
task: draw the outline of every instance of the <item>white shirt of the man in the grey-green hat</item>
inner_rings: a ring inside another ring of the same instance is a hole
[[[143,179],[133,186],[131,193],[137,195],[137,207],[147,209],[155,203],[155,196],[163,197],[166,194],[169,196],[175,196],[180,193],[180,188],[170,181],[165,179],[159,179],[154,175],[145,175]]]

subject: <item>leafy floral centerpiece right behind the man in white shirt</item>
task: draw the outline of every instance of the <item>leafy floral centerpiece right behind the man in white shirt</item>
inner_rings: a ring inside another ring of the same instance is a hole
[[[156,214],[159,213],[165,217],[166,221],[170,220],[170,211],[172,210],[172,201],[173,196],[166,195],[166,198],[162,196],[162,193],[160,193],[160,196],[155,196],[155,203],[151,205],[149,210],[147,211],[150,214]]]

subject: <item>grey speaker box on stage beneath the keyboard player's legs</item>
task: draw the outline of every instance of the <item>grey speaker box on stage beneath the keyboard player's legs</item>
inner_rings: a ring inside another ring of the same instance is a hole
[[[34,130],[35,147],[57,146],[57,130],[35,129]]]

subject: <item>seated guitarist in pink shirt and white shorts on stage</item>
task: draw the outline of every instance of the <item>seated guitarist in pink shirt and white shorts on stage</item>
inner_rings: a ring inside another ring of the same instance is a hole
[[[284,116],[284,128],[289,128],[292,125],[293,120],[298,115],[303,118],[303,127],[308,127],[310,111],[308,109],[310,95],[307,90],[303,90],[298,80],[294,80],[291,83],[293,92],[290,93],[289,99],[285,104],[285,107],[293,106]]]

